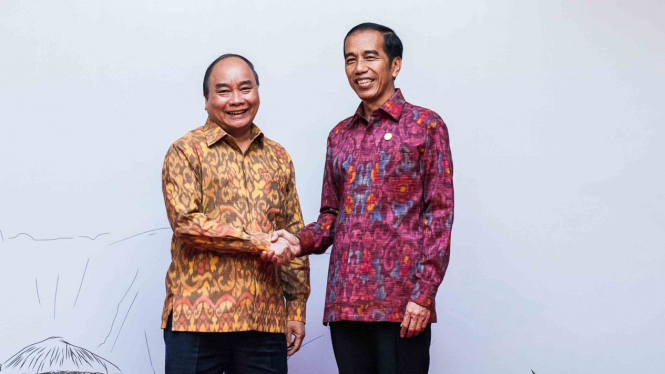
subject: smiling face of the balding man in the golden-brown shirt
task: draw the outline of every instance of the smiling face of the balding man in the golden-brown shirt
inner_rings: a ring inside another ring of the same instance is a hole
[[[236,138],[250,131],[259,103],[256,79],[245,61],[229,57],[213,67],[205,109],[224,131]]]

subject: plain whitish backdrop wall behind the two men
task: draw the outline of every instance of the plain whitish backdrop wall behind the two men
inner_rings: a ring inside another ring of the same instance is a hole
[[[405,45],[397,86],[451,136],[431,372],[663,372],[663,20],[657,0],[0,0],[0,363],[61,336],[162,373],[160,172],[205,121],[206,67],[254,62],[256,123],[311,222],[327,133],[359,102],[342,40],[373,21]],[[337,372],[327,261],[292,373]]]

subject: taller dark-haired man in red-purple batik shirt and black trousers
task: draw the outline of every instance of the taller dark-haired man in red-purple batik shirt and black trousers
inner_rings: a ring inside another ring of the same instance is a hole
[[[354,27],[344,59],[362,103],[328,136],[319,218],[297,237],[271,239],[285,237],[296,255],[333,244],[323,322],[341,374],[427,373],[453,223],[448,130],[395,89],[402,43],[393,30]]]

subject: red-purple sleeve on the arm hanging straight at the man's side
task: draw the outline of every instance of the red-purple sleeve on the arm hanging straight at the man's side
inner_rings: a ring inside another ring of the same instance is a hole
[[[409,301],[431,307],[450,258],[454,193],[448,129],[437,115],[427,123],[426,149],[421,164],[423,245],[416,270],[417,281]]]

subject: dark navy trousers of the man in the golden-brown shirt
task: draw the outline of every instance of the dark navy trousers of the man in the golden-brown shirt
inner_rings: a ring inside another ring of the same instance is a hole
[[[164,330],[166,374],[286,374],[286,337],[280,333]]]

